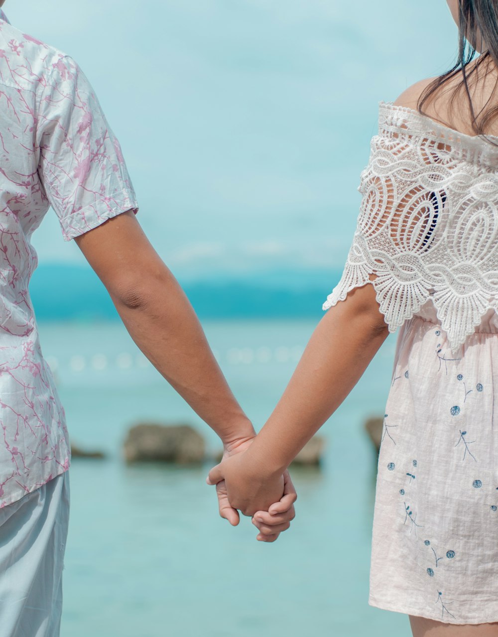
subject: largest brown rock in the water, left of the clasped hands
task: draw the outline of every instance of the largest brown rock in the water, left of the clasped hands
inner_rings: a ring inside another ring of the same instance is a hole
[[[124,442],[127,462],[203,462],[204,438],[189,425],[143,423],[131,427]]]

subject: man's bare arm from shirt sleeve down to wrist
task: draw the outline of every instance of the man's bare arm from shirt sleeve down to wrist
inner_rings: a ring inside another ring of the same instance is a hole
[[[132,339],[225,447],[252,438],[252,424],[227,385],[189,300],[134,214],[113,217],[75,241]]]

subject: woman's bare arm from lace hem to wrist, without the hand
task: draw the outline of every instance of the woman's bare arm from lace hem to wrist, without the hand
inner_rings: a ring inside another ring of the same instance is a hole
[[[356,385],[387,334],[371,285],[327,312],[250,448],[260,467],[278,473],[290,464]]]

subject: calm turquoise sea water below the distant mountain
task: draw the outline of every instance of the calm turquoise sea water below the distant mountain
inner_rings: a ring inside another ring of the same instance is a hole
[[[313,321],[207,322],[225,375],[259,427],[285,387]],[[409,635],[403,615],[367,605],[375,456],[364,419],[383,413],[389,338],[327,423],[321,470],[294,471],[297,517],[273,545],[217,514],[197,469],[125,466],[136,420],[185,420],[217,437],[147,366],[120,324],[42,325],[73,440],[106,461],[75,459],[62,636]]]

